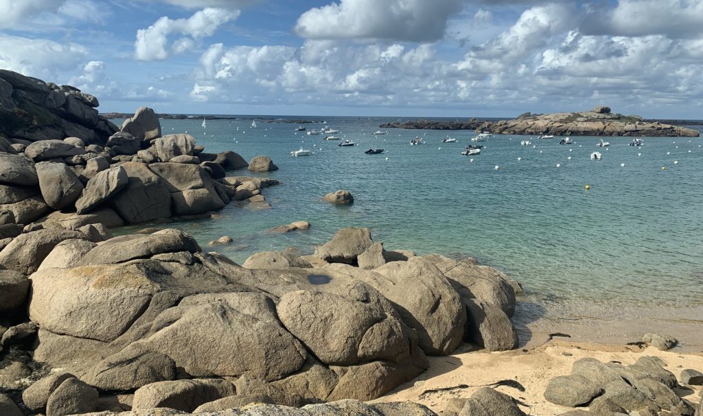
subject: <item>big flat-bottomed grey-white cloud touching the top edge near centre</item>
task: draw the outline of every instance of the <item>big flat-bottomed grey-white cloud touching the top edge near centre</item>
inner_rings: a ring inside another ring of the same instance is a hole
[[[437,41],[463,0],[341,0],[303,13],[295,33],[307,39]]]

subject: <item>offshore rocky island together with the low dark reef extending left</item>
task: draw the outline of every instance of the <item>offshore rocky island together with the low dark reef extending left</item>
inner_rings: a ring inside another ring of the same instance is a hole
[[[477,130],[483,133],[506,135],[565,135],[565,136],[624,136],[624,137],[698,137],[697,130],[681,126],[695,126],[694,121],[645,120],[640,116],[613,114],[610,107],[598,106],[588,112],[531,114],[501,121],[432,121],[417,120],[403,123],[385,123],[381,128],[425,130]]]

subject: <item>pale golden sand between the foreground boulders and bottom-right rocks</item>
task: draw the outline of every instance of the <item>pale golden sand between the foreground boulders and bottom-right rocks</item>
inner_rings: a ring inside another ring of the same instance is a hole
[[[453,398],[470,397],[477,387],[500,380],[515,380],[522,384],[525,391],[505,386],[496,389],[524,403],[520,408],[527,415],[560,415],[572,409],[549,403],[543,394],[550,379],[571,374],[574,361],[588,357],[602,362],[619,361],[632,364],[640,356],[662,358],[668,365],[667,369],[676,375],[677,379],[685,368],[703,371],[703,353],[683,354],[676,349],[659,351],[654,347],[643,349],[636,346],[571,342],[568,339],[557,338],[538,347],[515,351],[457,351],[457,354],[452,356],[430,357],[430,370],[374,402],[414,401],[439,413]],[[444,389],[460,384],[470,387],[425,393],[430,389]],[[694,403],[701,399],[700,388],[693,391],[679,389],[677,394]]]

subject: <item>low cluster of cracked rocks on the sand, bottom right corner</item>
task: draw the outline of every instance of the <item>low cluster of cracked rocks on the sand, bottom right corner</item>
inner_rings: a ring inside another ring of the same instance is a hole
[[[581,408],[564,415],[697,415],[695,404],[674,391],[682,386],[665,366],[652,356],[640,357],[632,365],[582,358],[574,362],[571,375],[550,380],[544,397],[567,408]],[[700,373],[684,370],[681,382],[700,385],[703,377],[696,379],[696,374]]]

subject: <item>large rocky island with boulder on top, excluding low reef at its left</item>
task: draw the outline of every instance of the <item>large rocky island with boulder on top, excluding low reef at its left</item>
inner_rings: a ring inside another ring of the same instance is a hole
[[[624,116],[598,106],[587,112],[531,114],[517,119],[486,121],[477,131],[512,135],[572,135],[626,137],[698,137],[697,130],[644,121],[640,116]]]

